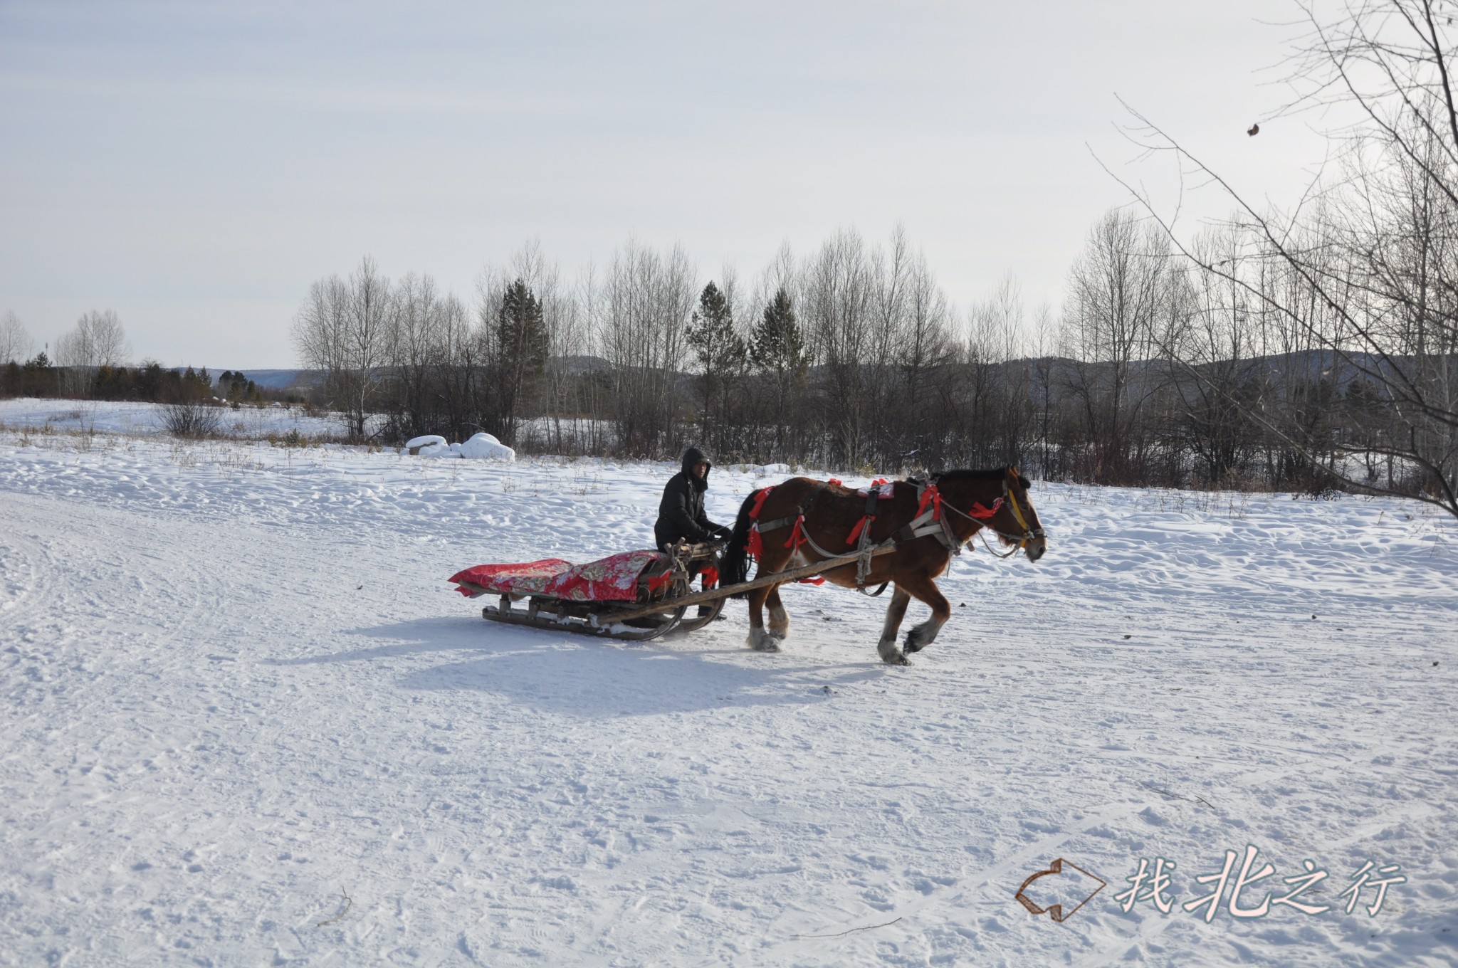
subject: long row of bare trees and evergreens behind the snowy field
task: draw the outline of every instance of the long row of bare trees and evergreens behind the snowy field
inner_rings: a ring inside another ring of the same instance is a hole
[[[701,280],[681,248],[628,242],[572,284],[539,246],[472,305],[364,258],[313,284],[302,360],[363,439],[487,430],[528,449],[843,468],[1019,464],[1099,484],[1322,490],[1371,443],[1382,399],[1280,311],[1302,281],[1232,226],[1197,242],[1252,296],[1127,208],[1089,229],[1066,303],[1003,280],[965,311],[897,230],[787,248],[751,284]],[[1299,446],[1236,405],[1290,415]],[[1363,434],[1368,434],[1366,437]],[[1365,452],[1384,484],[1422,487]]]

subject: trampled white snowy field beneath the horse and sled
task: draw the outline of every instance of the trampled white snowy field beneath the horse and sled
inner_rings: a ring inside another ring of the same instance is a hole
[[[23,439],[0,964],[1458,959],[1458,528],[1420,506],[1038,484],[1047,557],[956,560],[900,669],[889,596],[795,588],[761,655],[742,604],[633,646],[445,583],[650,544],[669,465]],[[779,477],[717,468],[712,516]],[[1013,897],[1054,859],[1108,882],[1061,924]],[[1117,899],[1140,859],[1168,914]]]

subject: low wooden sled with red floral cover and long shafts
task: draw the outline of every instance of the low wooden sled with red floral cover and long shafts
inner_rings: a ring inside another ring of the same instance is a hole
[[[681,541],[666,553],[624,551],[580,566],[561,558],[481,564],[449,580],[467,598],[496,596],[494,605],[481,609],[481,618],[488,621],[647,641],[671,631],[703,628],[719,617],[725,601],[733,595],[815,577],[860,557],[860,553],[846,554],[720,586],[719,551],[717,544]],[[691,582],[698,576],[707,579],[707,588],[695,592]],[[707,605],[709,611],[685,618],[690,606],[698,605]]]

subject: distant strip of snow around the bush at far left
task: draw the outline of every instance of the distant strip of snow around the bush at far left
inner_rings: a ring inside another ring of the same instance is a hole
[[[51,433],[165,434],[156,404],[98,399],[0,399],[0,429]],[[340,437],[341,418],[311,417],[302,407],[232,407],[220,410],[219,433],[226,437],[262,439],[296,430],[303,437]]]

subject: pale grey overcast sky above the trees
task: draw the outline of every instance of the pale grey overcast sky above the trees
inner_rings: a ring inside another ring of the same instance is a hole
[[[1174,204],[1115,95],[1252,198],[1322,160],[1245,130],[1296,9],[1250,3],[0,0],[0,312],[114,308],[136,359],[293,366],[312,280],[372,254],[474,296],[528,238],[572,277],[630,235],[703,281],[897,222],[961,306],[1057,305],[1089,225]],[[1187,200],[1188,201],[1188,200]],[[1187,208],[1223,211],[1217,198]]]

